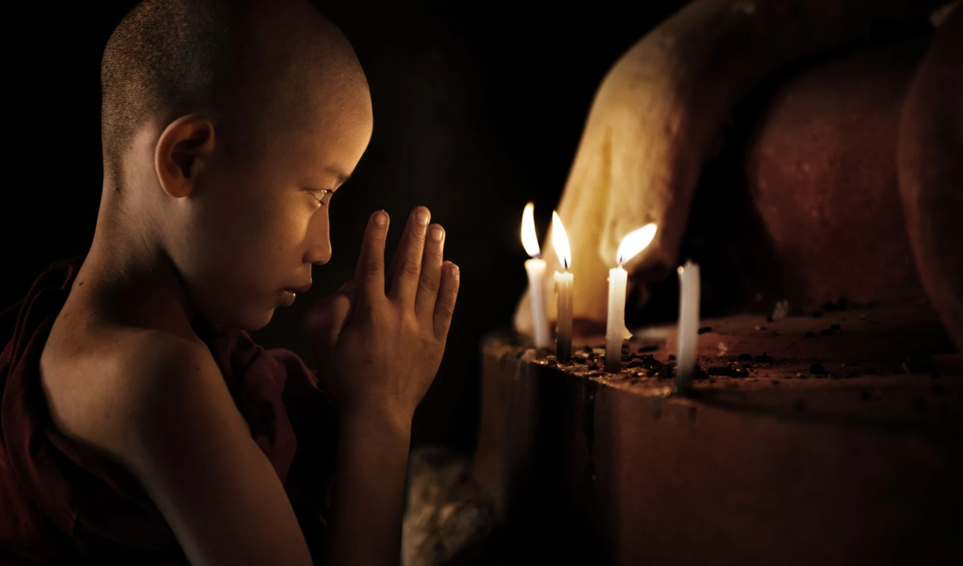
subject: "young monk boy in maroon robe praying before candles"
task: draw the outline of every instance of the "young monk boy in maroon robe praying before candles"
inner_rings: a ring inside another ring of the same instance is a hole
[[[372,133],[351,45],[301,0],[146,0],[102,83],[91,250],[0,320],[0,549],[398,564],[411,417],[458,288],[444,229],[415,209],[385,270],[371,217],[353,280],[310,316],[320,385],[244,332],[330,257],[331,197]]]

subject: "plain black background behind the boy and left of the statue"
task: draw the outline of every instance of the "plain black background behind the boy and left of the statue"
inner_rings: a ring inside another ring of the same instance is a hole
[[[53,260],[90,247],[101,187],[99,65],[135,2],[34,2],[8,13],[21,37],[7,69],[7,186],[0,201],[0,308]],[[633,42],[680,2],[321,2],[371,85],[375,132],[332,202],[331,262],[255,339],[313,364],[304,309],[351,276],[365,220],[429,206],[448,231],[462,286],[442,367],[413,443],[472,450],[484,333],[508,326],[526,286],[522,209],[540,234],[558,202],[595,89]],[[397,242],[398,230],[389,241]]]

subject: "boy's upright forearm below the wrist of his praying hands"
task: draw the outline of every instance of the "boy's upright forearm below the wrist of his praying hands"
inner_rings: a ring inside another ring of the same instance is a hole
[[[400,563],[410,418],[339,419],[325,564]]]

